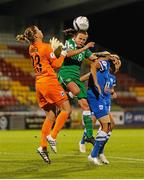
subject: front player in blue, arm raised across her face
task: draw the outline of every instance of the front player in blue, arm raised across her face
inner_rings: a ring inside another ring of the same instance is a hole
[[[91,65],[91,74],[88,75],[90,77],[87,91],[90,108],[101,124],[101,129],[99,129],[96,136],[94,148],[88,157],[90,161],[97,165],[100,165],[98,157],[100,153],[103,154],[102,150],[109,137],[108,133],[111,130],[111,120],[105,101],[105,96],[110,93],[107,86],[110,79],[109,70],[111,69],[116,72],[120,66],[120,61],[112,55],[109,56],[110,61],[106,61],[104,58],[100,59],[100,61],[96,61]],[[105,161],[104,163],[108,164],[109,162]]]

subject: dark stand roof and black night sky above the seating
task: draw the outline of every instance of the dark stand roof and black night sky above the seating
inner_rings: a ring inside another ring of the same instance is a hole
[[[89,34],[92,40],[144,66],[144,0],[90,0],[83,3],[76,1],[72,6],[53,11],[49,10],[49,7],[46,8],[49,2],[1,0],[0,14],[14,16],[17,21],[25,20],[27,24],[40,25],[42,19],[61,20],[64,21],[65,27],[72,26],[74,17],[86,15],[90,20]],[[53,2],[57,6],[64,1]],[[42,26],[46,31],[47,24]]]

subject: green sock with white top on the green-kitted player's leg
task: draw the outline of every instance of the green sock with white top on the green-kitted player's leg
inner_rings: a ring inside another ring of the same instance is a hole
[[[86,128],[86,135],[90,138],[93,135],[93,125],[90,111],[83,111],[83,121]]]

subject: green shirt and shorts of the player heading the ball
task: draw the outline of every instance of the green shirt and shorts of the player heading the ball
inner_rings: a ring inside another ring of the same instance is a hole
[[[66,41],[68,50],[77,50],[77,45],[73,39]],[[84,59],[89,58],[92,52],[87,49],[75,56],[66,57],[60,71],[58,73],[59,82],[66,89],[67,84],[75,82],[80,88],[80,93],[77,95],[78,99],[87,98],[85,85],[80,81],[80,67]]]

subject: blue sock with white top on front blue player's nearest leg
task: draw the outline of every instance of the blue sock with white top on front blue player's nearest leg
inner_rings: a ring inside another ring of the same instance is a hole
[[[105,144],[107,137],[107,133],[104,131],[99,131],[97,136],[96,136],[96,142],[94,144],[93,150],[91,152],[92,157],[98,157],[100,149],[103,147]]]

